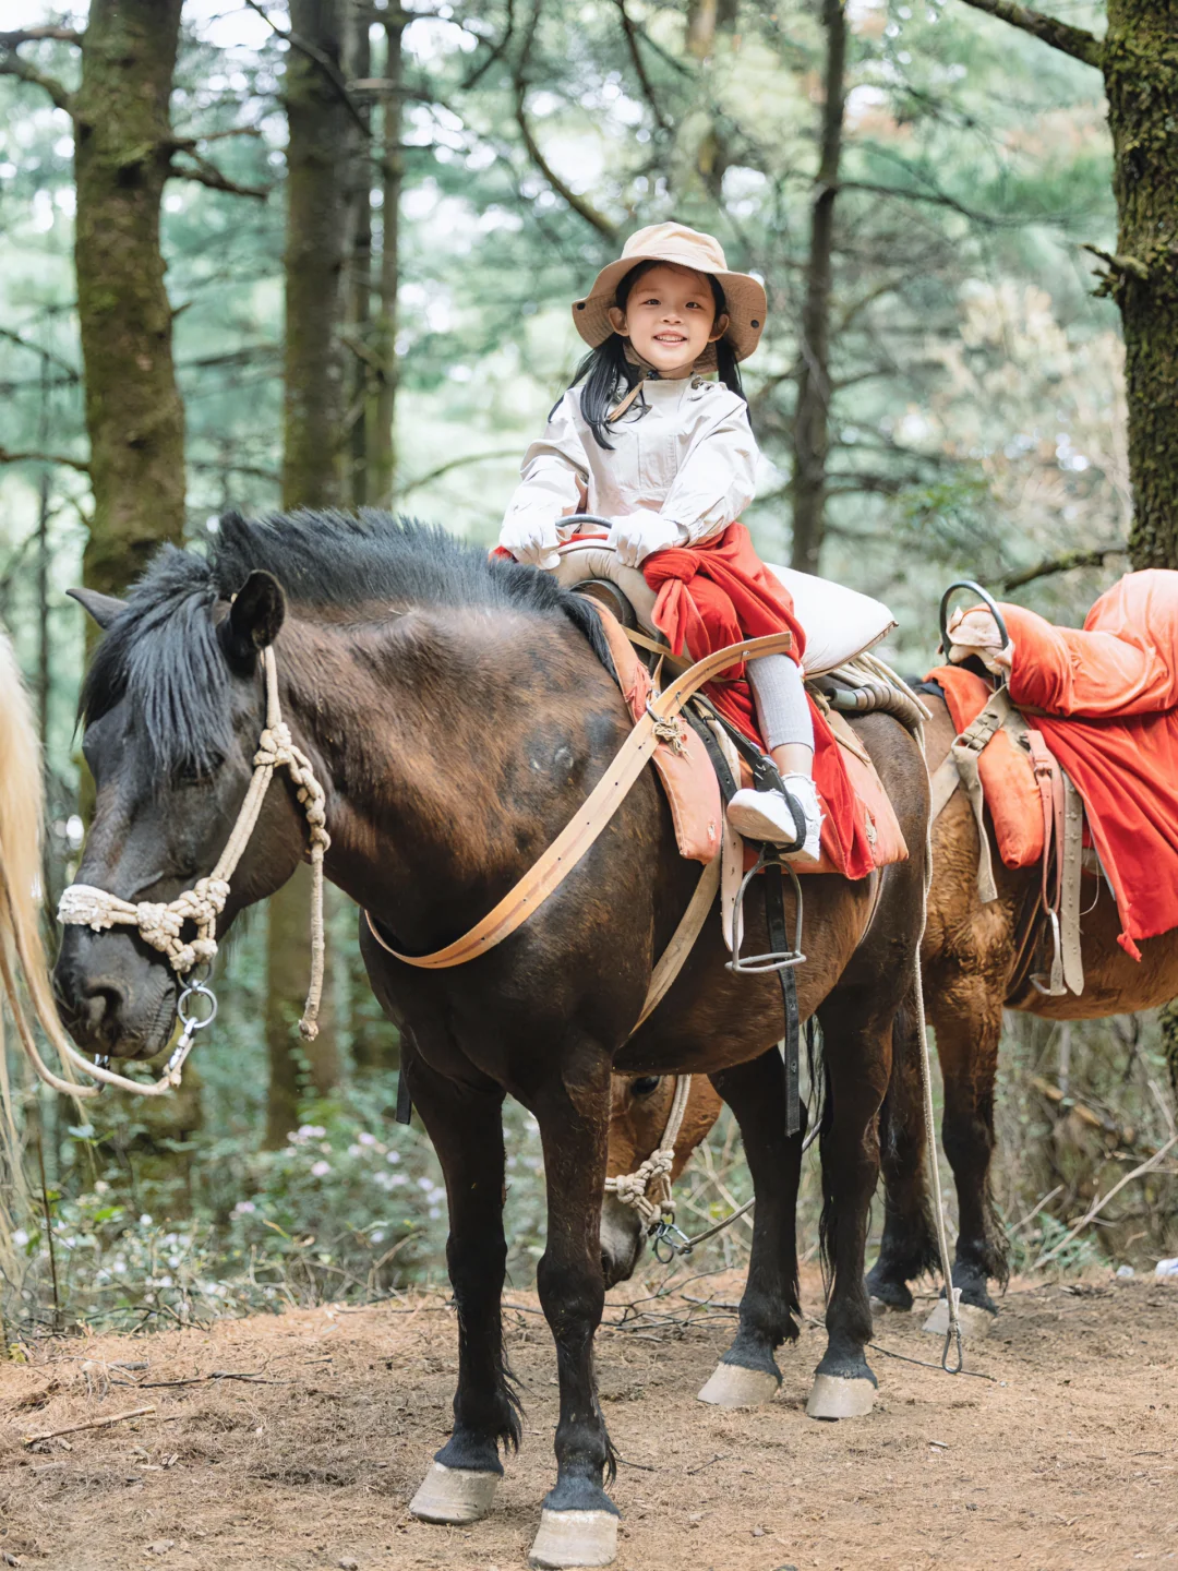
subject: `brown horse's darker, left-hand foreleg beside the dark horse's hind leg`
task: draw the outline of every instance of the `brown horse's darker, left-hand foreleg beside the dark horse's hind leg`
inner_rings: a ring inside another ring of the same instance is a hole
[[[892,1027],[892,1078],[880,1112],[884,1225],[880,1258],[867,1273],[872,1307],[909,1310],[908,1287],[939,1268],[925,1167],[925,1114],[917,1015],[909,999]]]

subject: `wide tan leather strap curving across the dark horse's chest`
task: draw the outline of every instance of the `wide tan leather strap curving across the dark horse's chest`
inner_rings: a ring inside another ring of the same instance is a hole
[[[589,603],[594,605],[598,616],[611,614],[605,606],[594,602]],[[788,633],[771,633],[768,638],[746,638],[740,644],[729,644],[726,649],[718,649],[713,655],[697,660],[669,688],[664,688],[658,698],[652,699],[646,715],[642,715],[625,738],[576,815],[561,829],[548,850],[528,869],[523,878],[507,891],[495,910],[488,911],[462,938],[455,938],[444,949],[435,949],[430,955],[402,955],[399,949],[394,949],[380,936],[375,922],[366,911],[364,916],[375,941],[407,966],[419,966],[427,971],[441,971],[448,966],[465,965],[468,960],[485,955],[488,949],[501,944],[504,938],[528,921],[532,911],[537,911],[543,905],[554,889],[559,889],[589,847],[597,840],[649,764],[661,740],[660,729],[666,721],[679,715],[691,694],[704,687],[705,682],[712,682],[721,671],[727,671],[729,666],[741,660],[781,655],[790,646],[792,636]]]

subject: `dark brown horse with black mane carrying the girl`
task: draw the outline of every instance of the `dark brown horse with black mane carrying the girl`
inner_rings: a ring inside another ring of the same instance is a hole
[[[232,599],[236,595],[236,599]],[[630,731],[595,613],[545,575],[488,562],[446,534],[386,515],[297,514],[221,523],[210,559],[166,551],[126,606],[90,600],[107,627],[90,671],[85,753],[97,782],[79,880],[129,900],[170,900],[212,867],[243,800],[262,720],[259,650],[273,646],[295,742],[327,793],[327,873],[408,954],[452,941],[528,870],[573,815]],[[872,880],[809,878],[803,1018],[826,1035],[825,1233],[832,1265],[828,1348],[837,1400],[862,1411],[867,1205],[875,1120],[891,1073],[892,1020],[917,961],[928,811],[916,743],[886,716],[859,724],[897,803],[911,861]],[[280,888],[306,853],[294,792],[275,786],[237,867],[221,928]],[[631,1035],[653,961],[699,869],[675,850],[669,809],[644,771],[559,889],[493,952],[462,969],[393,960],[361,925],[372,985],[401,1023],[413,1103],[441,1159],[448,1262],[459,1306],[454,1431],[416,1510],[471,1521],[520,1437],[504,1365],[501,1103],[540,1126],[548,1240],[539,1290],[558,1354],[558,1481],[534,1546],[539,1565],[603,1565],[616,1510],[613,1453],[595,1395],[603,1304],[598,1227],[614,1068],[710,1073],[732,1103],[762,1197],[763,1280],[730,1356],[774,1368],[796,1335],[793,1210],[801,1137],[766,1117],[782,1079],[774,977],[726,969],[710,922],[660,1009]],[[792,913],[788,913],[792,921]],[[760,894],[751,943],[766,938]],[[57,968],[86,1048],[157,1053],[176,979],[134,933],[68,928]]]

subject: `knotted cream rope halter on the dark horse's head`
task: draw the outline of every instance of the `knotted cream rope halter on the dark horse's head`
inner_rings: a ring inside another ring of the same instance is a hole
[[[273,649],[269,646],[262,650],[262,672],[265,677],[265,727],[258,738],[258,751],[253,756],[253,776],[229,840],[209,877],[198,878],[192,889],[184,889],[174,900],[163,903],[121,900],[94,884],[71,884],[61,895],[57,914],[60,922],[90,927],[96,933],[112,927],[134,927],[146,944],[166,957],[177,977],[188,976],[196,966],[212,965],[217,955],[217,917],[229,899],[229,881],[258,825],[273,773],[284,768],[295,786],[311,839],[311,985],[298,1029],[306,1042],[314,1042],[319,1035],[319,1002],[324,991],[324,853],[331,844],[331,836],[327,833],[327,798],[324,787],[316,779],[311,760],[302,748],[295,746],[291,729],[283,720],[278,699],[278,668]],[[185,939],[182,933],[188,922],[196,928],[196,936]],[[195,983],[193,991],[207,993],[209,990],[203,983]],[[201,1021],[201,1024],[210,1021]],[[112,1076],[99,1065],[91,1065],[80,1054],[72,1054],[72,1049],[71,1057],[97,1079],[132,1090],[141,1089],[135,1081]]]

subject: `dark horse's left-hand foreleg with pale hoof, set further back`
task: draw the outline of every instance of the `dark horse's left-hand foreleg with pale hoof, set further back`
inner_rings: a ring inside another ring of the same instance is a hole
[[[446,1263],[459,1310],[454,1433],[434,1459],[410,1510],[427,1522],[474,1522],[503,1477],[499,1442],[520,1442],[518,1403],[503,1356],[503,1092],[457,1084],[405,1057],[413,1104],[446,1175]]]

